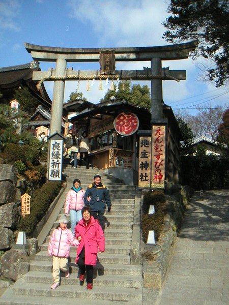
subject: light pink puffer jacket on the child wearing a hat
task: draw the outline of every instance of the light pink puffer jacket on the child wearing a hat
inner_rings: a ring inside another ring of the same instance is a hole
[[[79,241],[74,237],[71,230],[55,229],[50,236],[48,244],[48,255],[58,257],[69,257],[70,245],[79,246]]]

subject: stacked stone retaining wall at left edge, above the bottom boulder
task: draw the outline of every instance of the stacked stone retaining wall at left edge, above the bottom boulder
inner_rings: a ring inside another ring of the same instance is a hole
[[[17,170],[13,165],[0,167],[0,250],[9,249],[20,220],[21,193],[16,187]]]

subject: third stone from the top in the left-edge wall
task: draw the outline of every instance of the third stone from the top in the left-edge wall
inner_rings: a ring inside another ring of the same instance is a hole
[[[0,227],[15,228],[19,219],[18,207],[14,202],[0,206]]]

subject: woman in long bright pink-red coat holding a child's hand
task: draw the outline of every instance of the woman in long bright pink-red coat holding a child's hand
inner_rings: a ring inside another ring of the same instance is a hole
[[[80,241],[75,262],[79,266],[79,281],[83,285],[87,272],[87,288],[92,290],[93,266],[97,263],[97,254],[105,251],[105,238],[100,224],[91,216],[89,206],[81,210],[82,219],[75,226],[75,237]]]

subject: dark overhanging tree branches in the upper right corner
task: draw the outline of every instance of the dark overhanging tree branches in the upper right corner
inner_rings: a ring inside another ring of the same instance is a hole
[[[228,1],[171,0],[167,12],[173,15],[163,22],[163,38],[171,43],[198,39],[194,58],[213,59],[215,67],[207,69],[207,77],[223,85],[228,79]]]

